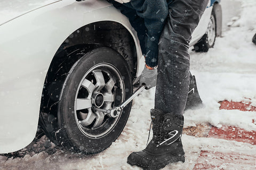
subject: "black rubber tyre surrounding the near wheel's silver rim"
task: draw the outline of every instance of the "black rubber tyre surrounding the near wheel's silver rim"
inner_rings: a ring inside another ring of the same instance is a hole
[[[61,128],[65,129],[66,134],[62,135],[65,139],[62,139],[62,141],[68,145],[67,148],[80,150],[87,154],[94,154],[109,147],[119,134],[121,134],[131,110],[130,103],[123,109],[115,127],[102,138],[89,138],[78,128],[75,117],[76,113],[74,113],[77,88],[84,75],[93,66],[100,63],[114,65],[119,73],[121,73],[124,82],[125,97],[127,98],[132,94],[131,73],[129,67],[124,58],[111,48],[102,47],[94,49],[85,54],[73,65],[62,89],[58,113],[58,117],[60,117],[59,124]]]

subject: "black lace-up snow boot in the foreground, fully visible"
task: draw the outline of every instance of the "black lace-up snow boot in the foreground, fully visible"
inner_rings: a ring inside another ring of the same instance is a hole
[[[164,114],[156,109],[150,110],[153,123],[153,139],[146,149],[132,152],[127,163],[147,170],[157,170],[169,163],[185,162],[181,134],[183,116]]]

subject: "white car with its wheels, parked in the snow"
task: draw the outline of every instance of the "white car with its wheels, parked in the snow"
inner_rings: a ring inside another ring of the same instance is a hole
[[[210,1],[191,46],[206,51],[221,34],[219,1]],[[143,69],[137,34],[104,0],[0,2],[0,153],[34,139],[38,118],[63,149],[100,152],[121,134]],[[199,43],[198,43],[199,41]]]

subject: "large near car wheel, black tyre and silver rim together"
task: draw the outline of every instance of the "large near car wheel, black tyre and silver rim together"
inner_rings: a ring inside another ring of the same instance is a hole
[[[70,69],[58,102],[58,128],[50,139],[73,151],[95,154],[108,148],[121,134],[131,110],[117,117],[94,112],[111,109],[132,94],[129,67],[115,50],[101,47],[86,53]]]

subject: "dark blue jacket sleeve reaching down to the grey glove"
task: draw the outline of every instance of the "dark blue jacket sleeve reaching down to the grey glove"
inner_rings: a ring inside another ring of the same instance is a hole
[[[130,3],[137,14],[145,20],[146,64],[151,67],[157,66],[158,42],[169,14],[167,2],[166,0],[131,0]]]

